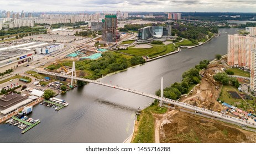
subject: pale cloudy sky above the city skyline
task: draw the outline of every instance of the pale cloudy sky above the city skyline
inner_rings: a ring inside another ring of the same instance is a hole
[[[256,0],[0,0],[19,12],[121,10],[141,12],[256,12]]]

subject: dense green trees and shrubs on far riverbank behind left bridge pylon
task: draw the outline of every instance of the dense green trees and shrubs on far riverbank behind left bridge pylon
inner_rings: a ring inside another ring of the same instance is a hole
[[[61,61],[61,64],[67,67],[72,67],[73,61]],[[133,65],[144,63],[145,60],[139,56],[128,56],[126,54],[117,52],[104,52],[102,57],[96,60],[85,59],[83,61],[76,62],[76,70],[79,76],[86,79],[98,79],[109,73],[117,72],[118,70],[124,70]],[[47,69],[54,71],[59,69],[61,65],[59,63],[49,65]]]

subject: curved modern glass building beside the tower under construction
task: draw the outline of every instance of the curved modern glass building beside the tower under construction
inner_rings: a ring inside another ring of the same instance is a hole
[[[138,40],[148,40],[149,38],[162,38],[170,36],[171,26],[148,26],[138,29]]]

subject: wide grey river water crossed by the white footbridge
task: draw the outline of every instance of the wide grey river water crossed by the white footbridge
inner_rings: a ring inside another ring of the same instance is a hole
[[[203,59],[214,59],[215,54],[227,53],[227,34],[238,29],[220,29],[220,36],[205,45],[138,65],[128,70],[105,76],[101,82],[154,92],[181,81],[181,74]],[[69,106],[55,111],[37,105],[30,117],[41,123],[21,134],[21,130],[0,124],[0,142],[123,142],[133,131],[135,111],[143,109],[153,99],[109,87],[87,84],[59,95]]]

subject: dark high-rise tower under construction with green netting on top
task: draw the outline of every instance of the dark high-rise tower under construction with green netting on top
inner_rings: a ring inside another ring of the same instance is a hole
[[[117,15],[105,15],[102,19],[102,40],[116,42],[117,39]]]

